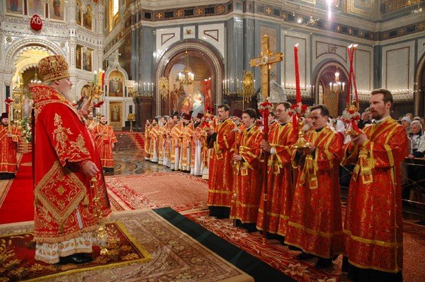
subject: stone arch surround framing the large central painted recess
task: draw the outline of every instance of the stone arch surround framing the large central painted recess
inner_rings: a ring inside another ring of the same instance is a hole
[[[220,104],[222,102],[221,81],[224,77],[223,58],[214,47],[198,40],[188,40],[177,43],[164,53],[161,59],[159,59],[157,70],[155,72],[155,86],[158,85],[159,78],[162,76],[169,76],[172,66],[181,60],[182,57],[186,56],[186,52],[188,52],[188,55],[193,57],[202,57],[207,64],[210,64],[212,104]],[[170,84],[172,85],[172,83]],[[154,99],[156,105],[155,113],[161,114],[162,98],[159,94],[158,88],[155,89]]]

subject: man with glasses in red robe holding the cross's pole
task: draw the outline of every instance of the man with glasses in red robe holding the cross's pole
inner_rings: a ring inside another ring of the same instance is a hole
[[[261,142],[268,158],[267,226],[264,227],[264,195],[261,194],[257,228],[266,229],[268,237],[283,240],[288,228],[290,206],[293,199],[293,169],[291,166],[292,146],[296,136],[288,114],[289,102],[276,105],[278,121],[270,124],[268,140]],[[273,120],[273,119],[272,119]],[[273,235],[271,235],[273,234]]]

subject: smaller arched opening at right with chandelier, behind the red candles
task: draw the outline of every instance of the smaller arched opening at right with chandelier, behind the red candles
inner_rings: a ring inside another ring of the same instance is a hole
[[[339,74],[339,82],[344,84],[344,90],[331,89],[330,83],[335,83],[336,73]],[[348,72],[336,61],[329,61],[320,67],[314,80],[314,101],[329,107],[332,117],[338,117],[346,107],[346,87],[348,84]]]

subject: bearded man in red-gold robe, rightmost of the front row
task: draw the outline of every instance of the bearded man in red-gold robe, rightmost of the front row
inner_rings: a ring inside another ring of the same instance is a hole
[[[373,90],[375,123],[351,136],[343,164],[355,164],[344,222],[344,270],[352,281],[402,281],[403,218],[400,163],[406,131],[390,117],[392,94]],[[348,262],[347,258],[348,257]]]

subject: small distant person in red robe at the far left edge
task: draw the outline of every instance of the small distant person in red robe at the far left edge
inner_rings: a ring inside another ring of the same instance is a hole
[[[16,150],[21,140],[17,127],[8,128],[8,114],[1,114],[0,124],[0,180],[10,180],[16,175],[18,161]]]

